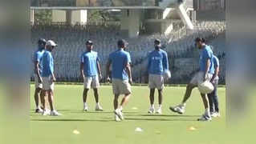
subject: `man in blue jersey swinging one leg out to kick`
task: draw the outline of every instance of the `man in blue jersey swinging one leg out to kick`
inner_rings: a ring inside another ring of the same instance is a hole
[[[213,51],[209,46],[205,44],[204,38],[196,38],[195,39],[196,46],[200,50],[200,58],[199,58],[199,72],[195,74],[192,80],[186,87],[185,95],[183,101],[178,106],[170,106],[169,109],[178,114],[185,113],[185,106],[187,100],[190,98],[191,92],[194,87],[197,87],[199,84],[205,81],[210,81],[213,78],[214,74],[214,64],[213,64]],[[211,116],[209,113],[209,100],[207,94],[201,94],[201,98],[204,102],[205,113],[202,114],[201,118],[198,118],[198,121],[210,121]]]

